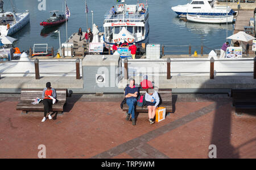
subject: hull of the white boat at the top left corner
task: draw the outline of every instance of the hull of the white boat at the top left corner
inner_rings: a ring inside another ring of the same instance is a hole
[[[23,13],[23,15],[20,16],[22,16],[22,18],[15,24],[12,24],[9,29],[7,28],[7,26],[1,26],[1,35],[13,35],[15,32],[19,31],[24,26],[26,26],[27,23],[30,22],[30,13]]]

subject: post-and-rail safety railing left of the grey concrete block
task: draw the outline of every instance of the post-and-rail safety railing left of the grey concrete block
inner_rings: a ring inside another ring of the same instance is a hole
[[[33,61],[1,61],[0,63],[31,63]],[[34,63],[35,63],[35,72],[33,73],[27,73],[27,72],[12,72],[12,73],[0,73],[0,78],[1,78],[1,74],[35,74],[35,79],[40,79],[40,73],[41,74],[76,74],[76,79],[80,79],[80,59],[76,59],[76,60],[69,60],[69,61],[65,61],[65,60],[51,60],[51,61],[44,61],[44,60],[40,60],[40,63],[49,63],[49,62],[53,62],[53,63],[76,63],[76,72],[39,72],[39,60],[35,59]]]

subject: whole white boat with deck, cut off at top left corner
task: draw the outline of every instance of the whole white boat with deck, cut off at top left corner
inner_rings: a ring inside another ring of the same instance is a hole
[[[30,13],[26,10],[24,13],[16,13],[12,0],[13,12],[7,11],[0,13],[0,33],[1,35],[12,35],[26,26],[30,22]]]

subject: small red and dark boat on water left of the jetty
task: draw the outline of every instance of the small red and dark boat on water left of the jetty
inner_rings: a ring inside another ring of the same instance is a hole
[[[59,15],[59,11],[50,11],[50,18],[47,20],[44,20],[43,22],[40,23],[40,26],[43,27],[52,27],[52,26],[57,26],[59,24],[62,24],[66,22],[66,16],[64,14]],[[67,18],[68,20],[68,18]]]

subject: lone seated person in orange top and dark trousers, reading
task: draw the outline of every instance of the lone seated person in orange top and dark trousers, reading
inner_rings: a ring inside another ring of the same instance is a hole
[[[56,101],[56,90],[51,88],[51,82],[46,83],[46,88],[43,90],[42,98],[43,98],[43,104],[44,104],[44,118],[42,119],[42,122],[46,121],[46,115],[48,114],[48,118],[52,119],[51,114],[49,114],[49,111],[52,107],[52,104]]]

